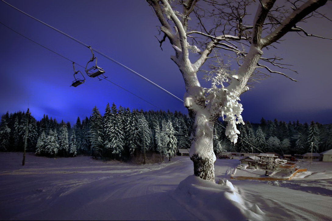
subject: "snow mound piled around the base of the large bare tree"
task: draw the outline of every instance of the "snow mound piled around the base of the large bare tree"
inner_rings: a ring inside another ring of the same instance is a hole
[[[215,184],[188,176],[180,182],[173,197],[200,220],[266,220],[257,205],[243,200],[239,190],[224,179]]]

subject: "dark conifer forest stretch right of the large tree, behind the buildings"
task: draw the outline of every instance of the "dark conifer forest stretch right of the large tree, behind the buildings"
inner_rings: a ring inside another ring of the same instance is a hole
[[[301,124],[299,121],[286,123],[274,119],[261,119],[260,124],[249,121],[237,125],[240,131],[236,145],[225,138],[225,124],[214,125],[217,137],[214,150],[233,152],[276,152],[279,154],[303,154],[312,151],[320,153],[332,148],[332,124],[322,125],[311,121]],[[250,145],[251,144],[251,145]],[[259,151],[260,150],[260,151]]]

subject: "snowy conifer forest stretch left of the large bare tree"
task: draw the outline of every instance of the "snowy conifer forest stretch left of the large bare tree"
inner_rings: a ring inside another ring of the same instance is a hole
[[[167,156],[177,153],[177,147],[189,148],[192,122],[181,112],[138,111],[113,103],[107,104],[102,116],[97,107],[76,124],[58,123],[43,116],[40,121],[27,113],[8,112],[1,117],[0,150],[23,151],[25,128],[29,118],[27,151],[40,156],[75,157],[78,154],[93,158],[128,160],[148,151]]]

